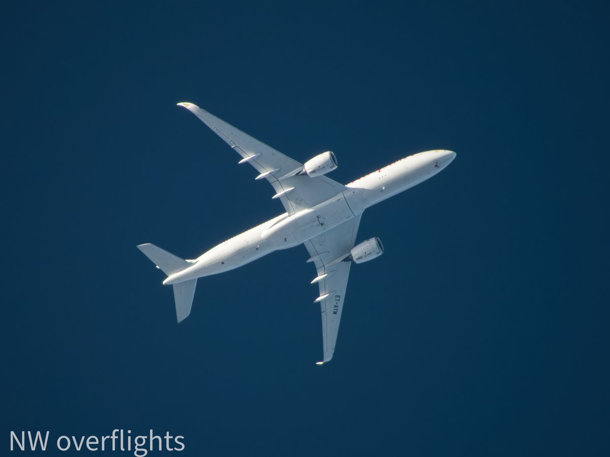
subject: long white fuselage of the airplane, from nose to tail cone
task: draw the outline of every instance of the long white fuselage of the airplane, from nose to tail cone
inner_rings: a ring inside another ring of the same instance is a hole
[[[420,152],[346,184],[347,190],[307,210],[263,222],[218,244],[190,261],[192,266],[167,277],[163,284],[181,283],[250,263],[279,249],[298,246],[349,221],[382,200],[405,191],[445,168],[455,152]]]

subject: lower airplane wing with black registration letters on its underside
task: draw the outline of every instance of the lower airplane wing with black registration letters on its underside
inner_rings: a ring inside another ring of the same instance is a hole
[[[320,302],[322,314],[324,359],[318,364],[331,360],[335,352],[351,266],[351,261],[344,259],[354,247],[360,218],[350,219],[304,243],[310,255],[308,261],[314,262],[318,272],[312,283],[317,282],[320,286],[320,296],[316,301]]]

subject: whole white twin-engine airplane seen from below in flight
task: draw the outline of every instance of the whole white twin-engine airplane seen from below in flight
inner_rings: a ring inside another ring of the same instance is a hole
[[[395,196],[442,171],[456,153],[445,149],[409,155],[346,185],[326,174],[337,168],[332,151],[316,155],[304,164],[293,160],[236,129],[197,105],[181,102],[231,146],[266,179],[275,191],[272,199],[284,205],[285,213],[218,244],[196,259],[183,260],[154,244],[140,249],[167,275],[172,285],[178,322],[191,312],[197,279],[235,269],[279,249],[304,244],[316,269],[312,284],[318,284],[322,316],[323,360],[331,360],[337,343],[345,289],[351,263],[379,257],[384,247],[379,238],[356,244],[362,213],[368,207]]]

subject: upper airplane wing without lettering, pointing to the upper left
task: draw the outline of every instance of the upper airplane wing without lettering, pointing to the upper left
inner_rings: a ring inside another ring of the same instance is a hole
[[[187,108],[237,151],[242,156],[239,163],[248,162],[252,165],[259,172],[256,179],[267,179],[276,191],[273,198],[280,199],[289,216],[328,200],[346,189],[326,176],[310,178],[307,175],[298,175],[303,170],[303,164],[298,161],[243,133],[197,105],[178,105]]]

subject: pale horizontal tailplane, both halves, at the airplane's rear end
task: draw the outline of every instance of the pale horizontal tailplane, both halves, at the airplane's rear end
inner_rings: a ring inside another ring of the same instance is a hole
[[[163,273],[168,276],[184,270],[191,264],[186,260],[182,260],[180,257],[163,250],[154,244],[146,243],[138,246],[146,257],[148,257],[157,268],[161,269]],[[188,281],[177,283],[173,285],[174,288],[174,300],[176,301],[176,317],[178,322],[184,321],[190,314],[191,306],[193,305],[193,297],[195,296],[195,286],[197,285],[197,278],[190,279]]]

